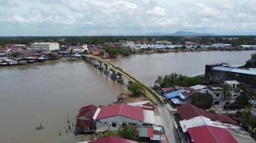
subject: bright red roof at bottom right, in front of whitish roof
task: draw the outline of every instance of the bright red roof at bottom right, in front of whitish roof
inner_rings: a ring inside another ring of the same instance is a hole
[[[198,126],[188,128],[188,133],[194,143],[237,143],[227,129],[213,126]]]

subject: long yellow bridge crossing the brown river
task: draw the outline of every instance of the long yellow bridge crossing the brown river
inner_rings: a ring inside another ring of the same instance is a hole
[[[151,102],[153,102],[154,104],[157,104],[157,100],[158,100],[160,103],[165,104],[163,97],[161,97],[160,94],[155,92],[155,90],[153,90],[151,87],[147,86],[147,84],[143,83],[140,79],[137,79],[137,77],[134,77],[134,75],[129,74],[127,71],[125,71],[121,67],[112,64],[109,60],[102,59],[99,56],[93,56],[91,54],[84,54],[83,58],[84,59],[93,59],[93,60],[97,60],[99,62],[104,63],[105,65],[109,66],[109,69],[115,71],[118,74],[122,74],[122,76],[127,78],[129,81],[137,82],[137,83],[141,84],[145,90],[145,97],[147,97],[147,99],[150,99]]]

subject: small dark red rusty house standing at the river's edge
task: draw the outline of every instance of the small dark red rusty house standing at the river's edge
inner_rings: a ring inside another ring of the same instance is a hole
[[[76,118],[76,131],[78,132],[91,132],[96,130],[96,116],[99,114],[98,107],[94,105],[88,105],[82,107]]]

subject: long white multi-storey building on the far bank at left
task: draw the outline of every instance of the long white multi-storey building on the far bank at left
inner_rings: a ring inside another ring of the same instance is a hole
[[[58,51],[60,44],[57,42],[35,42],[30,45],[32,51]]]

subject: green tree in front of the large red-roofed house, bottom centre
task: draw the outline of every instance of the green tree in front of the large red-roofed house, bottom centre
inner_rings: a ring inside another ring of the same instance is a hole
[[[124,139],[130,139],[133,141],[137,141],[139,139],[138,137],[138,131],[135,129],[135,127],[127,127],[124,126],[119,129],[119,137],[122,137]]]

